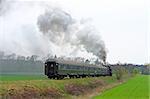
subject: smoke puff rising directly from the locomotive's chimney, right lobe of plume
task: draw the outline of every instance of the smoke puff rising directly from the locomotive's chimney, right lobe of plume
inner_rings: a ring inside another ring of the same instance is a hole
[[[106,62],[107,54],[105,44],[98,34],[99,32],[94,27],[85,25],[78,31],[77,38],[80,42],[79,44],[83,45],[87,52],[93,53],[100,60]]]

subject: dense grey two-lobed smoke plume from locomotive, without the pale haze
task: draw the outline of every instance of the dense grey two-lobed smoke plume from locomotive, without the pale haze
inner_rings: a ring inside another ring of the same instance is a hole
[[[70,14],[60,9],[50,9],[38,17],[39,30],[49,40],[58,46],[66,43],[81,50],[83,47],[88,53],[106,61],[106,49],[98,32],[86,22],[77,22]]]

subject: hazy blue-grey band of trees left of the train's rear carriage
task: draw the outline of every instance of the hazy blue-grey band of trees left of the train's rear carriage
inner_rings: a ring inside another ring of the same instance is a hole
[[[43,62],[37,55],[6,55],[0,51],[0,74],[44,74]]]

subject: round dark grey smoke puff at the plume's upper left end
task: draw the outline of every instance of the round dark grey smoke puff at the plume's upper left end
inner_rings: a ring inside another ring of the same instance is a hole
[[[53,43],[58,44],[61,39],[65,41],[71,37],[68,30],[73,20],[68,13],[60,9],[51,9],[40,15],[37,24],[40,31],[48,34],[49,40]]]

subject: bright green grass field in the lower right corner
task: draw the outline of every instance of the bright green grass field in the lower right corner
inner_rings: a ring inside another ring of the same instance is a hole
[[[94,99],[150,99],[150,75],[139,75]]]

